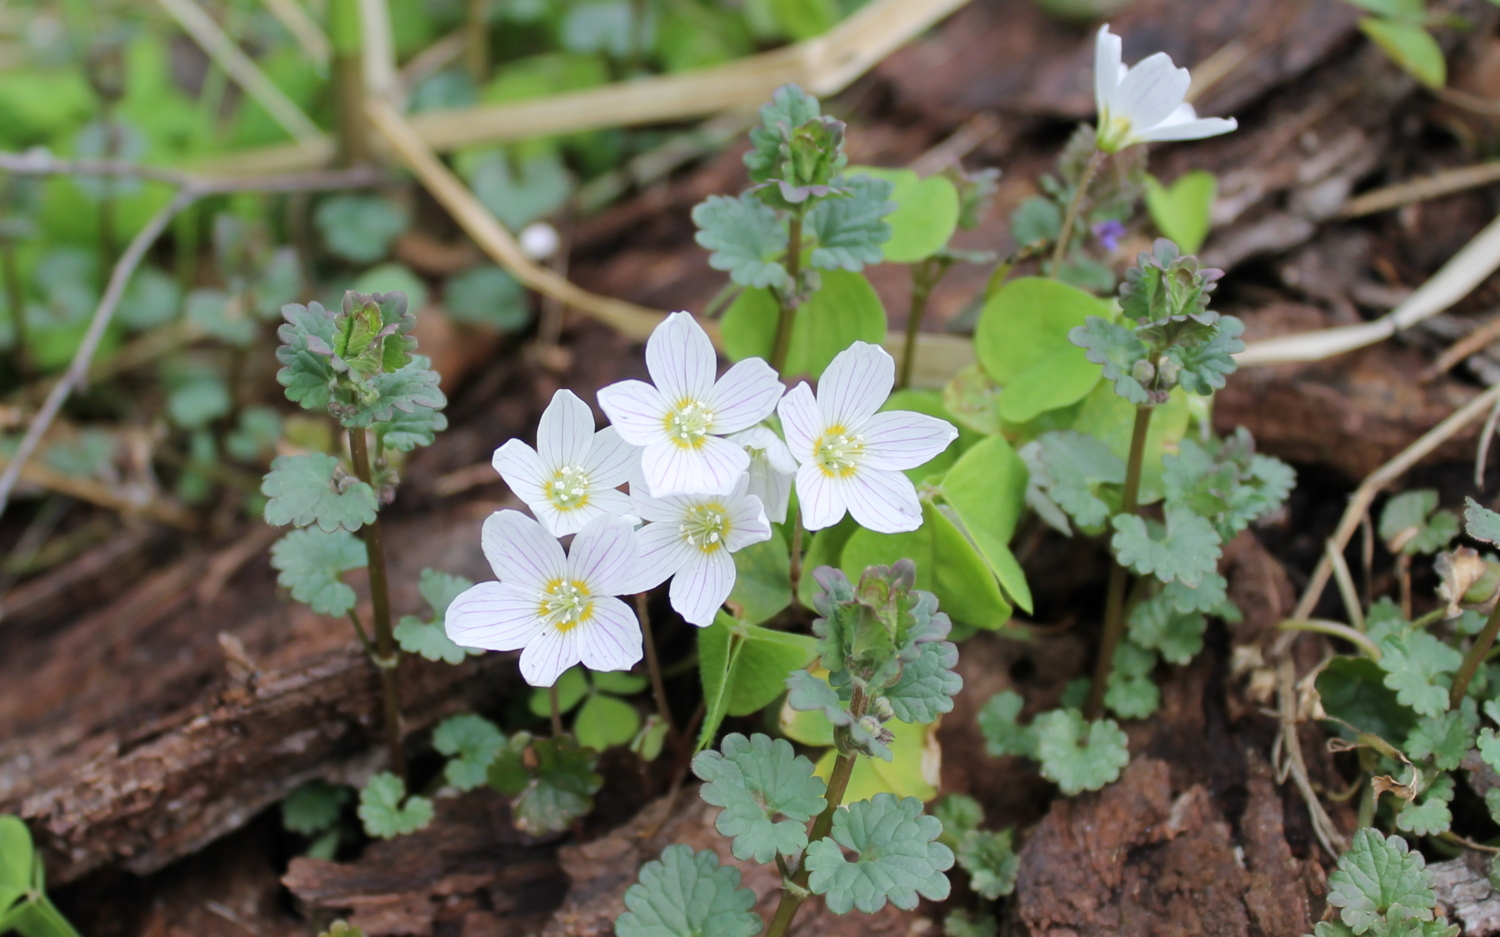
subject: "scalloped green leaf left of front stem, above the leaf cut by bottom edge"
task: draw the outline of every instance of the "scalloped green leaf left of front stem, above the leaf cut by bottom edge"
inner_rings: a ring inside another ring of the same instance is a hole
[[[777,853],[801,853],[807,822],[825,807],[826,786],[813,763],[786,739],[760,733],[728,735],[720,748],[723,754],[699,753],[693,774],[705,781],[698,792],[704,802],[723,808],[714,826],[734,840],[735,858],[770,862]]]

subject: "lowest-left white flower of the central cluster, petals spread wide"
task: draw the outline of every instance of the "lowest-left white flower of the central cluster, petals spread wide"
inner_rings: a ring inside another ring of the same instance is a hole
[[[628,670],[640,660],[640,624],[626,603],[639,552],[624,517],[596,517],[568,553],[520,511],[484,520],[484,556],[500,582],[482,582],[444,616],[460,648],[520,651],[520,676],[550,687],[564,670]]]

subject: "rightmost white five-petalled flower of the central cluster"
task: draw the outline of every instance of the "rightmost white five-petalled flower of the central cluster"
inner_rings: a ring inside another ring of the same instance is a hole
[[[802,525],[820,531],[848,510],[872,531],[898,534],[922,525],[916,489],[902,474],[958,436],[951,423],[910,411],[876,412],[896,384],[896,360],[855,342],[838,352],[818,396],[798,384],[783,399],[782,429],[801,468],[796,498]]]

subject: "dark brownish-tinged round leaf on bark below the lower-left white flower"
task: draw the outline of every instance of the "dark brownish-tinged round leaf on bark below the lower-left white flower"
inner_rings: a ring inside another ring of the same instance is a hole
[[[567,829],[594,808],[604,778],[594,774],[598,756],[572,736],[534,739],[518,732],[489,766],[489,784],[512,798],[516,828],[531,835]]]

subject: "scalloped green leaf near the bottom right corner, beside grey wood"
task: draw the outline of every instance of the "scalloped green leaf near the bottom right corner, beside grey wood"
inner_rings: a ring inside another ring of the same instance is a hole
[[[1412,852],[1401,837],[1388,840],[1372,828],[1354,834],[1328,885],[1328,903],[1340,909],[1354,934],[1388,922],[1432,921],[1437,904],[1422,853]]]

